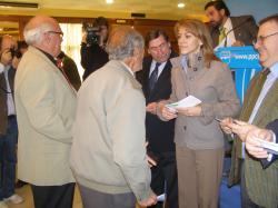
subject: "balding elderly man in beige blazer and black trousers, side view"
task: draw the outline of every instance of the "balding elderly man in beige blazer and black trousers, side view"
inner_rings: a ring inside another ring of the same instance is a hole
[[[56,65],[62,31],[49,17],[26,26],[28,51],[14,80],[18,175],[31,185],[36,208],[71,208],[75,179],[69,166],[76,90]]]

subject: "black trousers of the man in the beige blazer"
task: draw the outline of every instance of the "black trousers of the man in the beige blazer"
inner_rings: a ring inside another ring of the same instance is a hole
[[[31,185],[36,208],[71,208],[75,195],[73,182],[62,186]]]

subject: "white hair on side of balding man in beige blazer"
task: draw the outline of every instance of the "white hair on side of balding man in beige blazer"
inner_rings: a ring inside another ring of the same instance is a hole
[[[23,30],[24,40],[28,44],[38,44],[42,41],[42,34],[52,30],[52,26],[48,22],[41,23],[36,28],[26,27]]]

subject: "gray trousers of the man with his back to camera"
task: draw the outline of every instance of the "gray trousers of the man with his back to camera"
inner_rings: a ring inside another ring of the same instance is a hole
[[[136,197],[132,192],[106,194],[78,185],[83,208],[135,208]]]

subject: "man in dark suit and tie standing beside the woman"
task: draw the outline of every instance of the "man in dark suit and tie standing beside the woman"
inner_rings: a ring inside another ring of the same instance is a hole
[[[137,75],[142,85],[147,102],[146,135],[148,156],[156,160],[151,168],[151,188],[157,195],[166,190],[166,207],[178,207],[178,181],[176,150],[173,143],[175,121],[161,121],[157,117],[159,100],[169,99],[171,93],[171,62],[177,55],[171,51],[168,36],[162,30],[151,30],[146,36],[149,57],[143,59],[142,71]],[[162,207],[158,204],[153,207]]]

